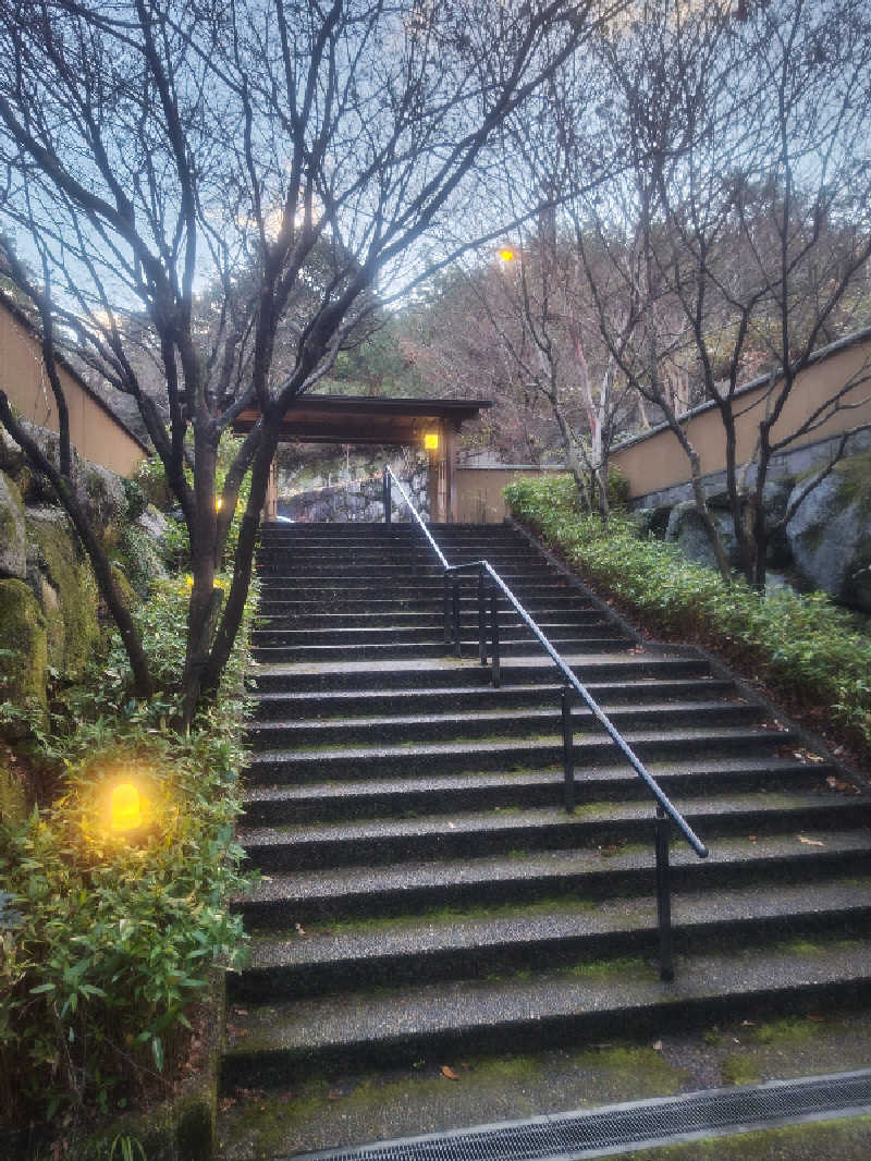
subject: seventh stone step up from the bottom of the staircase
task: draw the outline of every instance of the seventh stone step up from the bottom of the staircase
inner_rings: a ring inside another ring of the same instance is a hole
[[[672,726],[734,726],[755,723],[764,717],[761,706],[730,701],[663,701],[645,706],[603,709],[619,730]],[[578,734],[599,730],[592,712],[581,699],[571,709],[573,729]],[[351,745],[424,740],[483,737],[561,737],[562,716],[554,698],[549,707],[534,709],[480,709],[466,713],[402,716],[352,717],[347,720],[289,720],[252,722],[249,738],[253,747]]]

